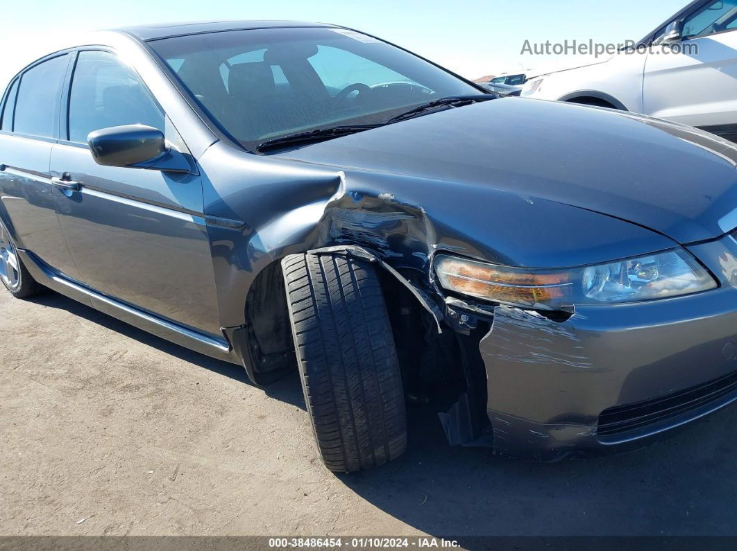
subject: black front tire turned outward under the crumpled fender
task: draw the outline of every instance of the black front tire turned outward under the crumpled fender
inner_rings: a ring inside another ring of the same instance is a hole
[[[328,469],[359,471],[407,444],[402,377],[374,267],[332,255],[282,260],[299,374]]]

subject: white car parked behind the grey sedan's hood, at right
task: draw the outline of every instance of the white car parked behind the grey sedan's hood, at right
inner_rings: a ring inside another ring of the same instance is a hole
[[[645,113],[737,141],[737,0],[693,1],[638,46],[643,53],[538,74],[522,95]]]

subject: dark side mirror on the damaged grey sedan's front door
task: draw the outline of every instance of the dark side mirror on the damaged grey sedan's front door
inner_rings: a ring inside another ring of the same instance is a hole
[[[149,165],[167,153],[164,132],[143,124],[95,130],[87,143],[95,162],[104,166]]]

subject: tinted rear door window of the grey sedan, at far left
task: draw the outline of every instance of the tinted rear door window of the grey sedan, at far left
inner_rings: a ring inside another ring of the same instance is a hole
[[[59,95],[68,62],[69,56],[64,54],[23,74],[15,102],[15,132],[47,138],[54,136]]]

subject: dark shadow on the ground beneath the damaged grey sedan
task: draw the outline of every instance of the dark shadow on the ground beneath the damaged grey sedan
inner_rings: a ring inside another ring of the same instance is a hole
[[[50,293],[33,302],[251,385],[240,366],[191,352],[66,297]],[[296,373],[263,390],[304,409]],[[528,463],[499,458],[489,449],[451,447],[428,406],[408,409],[408,438],[407,452],[397,461],[336,477],[371,505],[432,536],[737,533],[737,408],[725,408],[634,452],[559,463]],[[463,537],[461,543],[472,549],[486,545]]]

